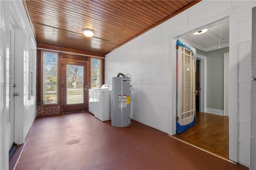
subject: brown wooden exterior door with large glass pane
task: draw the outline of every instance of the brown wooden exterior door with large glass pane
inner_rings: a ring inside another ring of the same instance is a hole
[[[88,110],[87,63],[63,61],[63,113]]]

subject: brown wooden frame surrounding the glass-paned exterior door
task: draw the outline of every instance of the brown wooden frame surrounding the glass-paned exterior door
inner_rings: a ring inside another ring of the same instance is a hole
[[[60,63],[62,65],[63,61],[71,61],[71,62],[80,62],[80,63],[86,63],[87,65],[87,78],[86,78],[86,81],[87,81],[87,90],[86,90],[86,95],[87,95],[87,99],[88,99],[88,95],[89,95],[89,86],[90,86],[90,65],[89,65],[89,61],[82,61],[82,60],[78,60],[78,59],[67,59],[67,58],[61,58],[60,59]],[[61,84],[61,90],[60,90],[60,98],[63,98],[63,88],[62,88],[62,85],[63,85],[63,65],[61,66],[61,69],[60,69],[60,84]],[[86,102],[86,108],[88,108],[88,104],[89,104],[89,101],[87,100]],[[60,101],[60,113],[63,113],[63,100]]]

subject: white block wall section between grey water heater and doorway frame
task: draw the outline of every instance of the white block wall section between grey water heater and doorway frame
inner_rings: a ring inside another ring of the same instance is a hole
[[[168,39],[161,38],[161,27],[113,51],[106,61],[106,83],[119,72],[132,77],[132,119],[167,132]]]

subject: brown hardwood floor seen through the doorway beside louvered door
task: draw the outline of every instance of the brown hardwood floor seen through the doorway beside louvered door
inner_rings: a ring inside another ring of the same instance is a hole
[[[228,123],[228,116],[197,112],[196,125],[173,137],[228,159]]]

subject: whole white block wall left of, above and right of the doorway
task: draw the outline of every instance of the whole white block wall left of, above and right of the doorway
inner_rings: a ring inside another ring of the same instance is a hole
[[[238,93],[230,94],[235,106],[230,118],[234,129],[232,136],[231,158],[245,166],[249,166],[249,138],[250,138],[250,41],[251,41],[251,8],[256,1],[202,1],[178,14],[174,18],[158,25],[143,35],[133,39],[118,49],[106,55],[105,82],[118,72],[132,76],[134,92],[132,96],[131,118],[173,134],[176,95],[174,84],[176,57],[174,40],[193,33],[206,25],[213,24],[223,18],[232,19],[231,24],[237,27],[231,30],[231,69],[237,71]],[[237,21],[239,23],[237,23]],[[238,25],[238,26],[237,26]],[[234,40],[234,41],[233,41]],[[237,48],[239,47],[239,48]],[[237,50],[237,51],[236,51]],[[236,75],[233,74],[233,75]],[[171,90],[170,90],[171,89]],[[231,90],[236,89],[236,86]],[[171,104],[170,104],[171,103]],[[237,106],[237,107],[236,107]],[[238,117],[238,118],[236,118]],[[237,127],[238,125],[238,127]],[[238,137],[237,137],[238,136]],[[233,140],[234,138],[234,140]],[[238,145],[238,148],[236,148]]]

